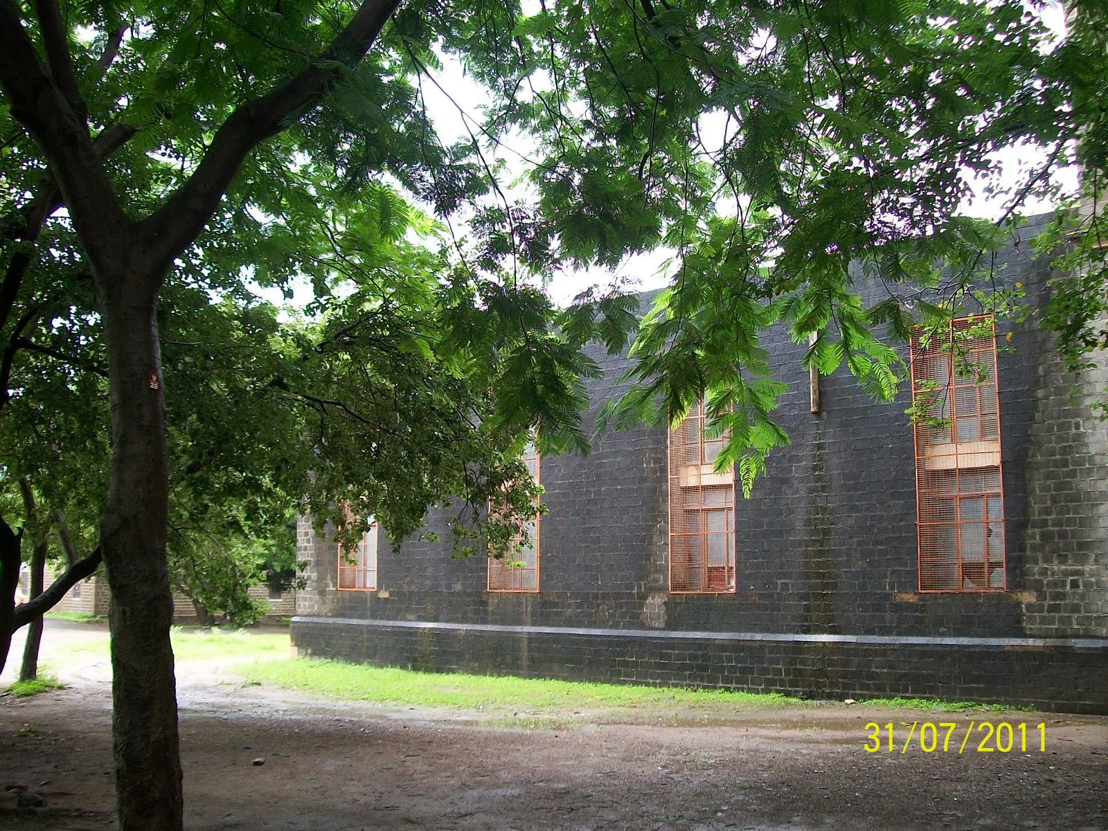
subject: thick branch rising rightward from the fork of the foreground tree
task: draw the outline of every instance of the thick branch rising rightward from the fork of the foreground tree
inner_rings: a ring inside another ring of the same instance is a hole
[[[363,0],[347,27],[307,69],[265,95],[240,104],[216,131],[195,173],[138,233],[153,259],[168,267],[203,229],[246,155],[314,107],[366,57],[401,0]],[[0,30],[2,34],[2,30]]]

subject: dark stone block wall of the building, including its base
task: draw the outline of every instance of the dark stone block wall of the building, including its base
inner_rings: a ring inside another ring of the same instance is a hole
[[[1026,242],[995,266],[1043,302],[1048,268]],[[1090,408],[1108,365],[1065,376],[1032,321],[999,321],[997,335],[1007,592],[917,591],[911,391],[875,403],[840,371],[811,413],[804,347],[773,331],[765,346],[790,386],[776,417],[792,443],[739,497],[736,594],[669,594],[666,432],[638,428],[584,459],[543,459],[536,594],[486,592],[484,560],[450,558],[441,515],[428,529],[443,542],[393,553],[382,536],[380,591],[338,592],[334,543],[301,520],[309,585],[294,640],[443,670],[1108,711],[1108,430]],[[598,360],[597,408],[628,366]]]

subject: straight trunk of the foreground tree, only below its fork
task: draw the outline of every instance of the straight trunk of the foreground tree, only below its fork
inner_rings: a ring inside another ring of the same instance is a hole
[[[126,258],[121,252],[119,259]],[[173,604],[165,558],[168,460],[155,318],[161,279],[141,269],[127,274],[125,266],[121,271],[98,274],[112,403],[111,484],[100,540],[112,591],[119,828],[181,831]]]

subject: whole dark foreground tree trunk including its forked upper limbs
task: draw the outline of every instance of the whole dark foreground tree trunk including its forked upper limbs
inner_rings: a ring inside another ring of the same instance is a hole
[[[152,215],[121,205],[88,131],[69,29],[57,3],[38,3],[35,49],[23,3],[0,2],[0,89],[11,115],[45,151],[92,267],[107,349],[112,464],[100,548],[112,591],[112,732],[120,831],[179,831],[181,760],[170,646],[172,599],[165,543],[168,461],[157,295],[166,270],[191,246],[243,160],[319,103],[366,55],[400,0],[363,0],[349,22],[299,72],[246,101],[218,126],[187,181]],[[106,132],[106,131],[104,131]],[[2,529],[0,529],[2,532]],[[3,555],[0,540],[0,555]],[[8,565],[0,568],[6,591]],[[18,577],[18,573],[17,573]],[[11,604],[0,592],[0,639]],[[10,636],[10,625],[7,627]]]

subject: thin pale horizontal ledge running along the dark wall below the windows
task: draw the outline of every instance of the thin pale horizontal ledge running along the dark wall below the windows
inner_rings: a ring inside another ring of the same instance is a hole
[[[677,640],[724,640],[731,643],[779,642],[789,644],[861,644],[871,646],[971,646],[992,649],[1065,649],[1108,653],[1108,638],[983,638],[922,637],[914,635],[809,635],[771,632],[670,632],[667,629],[601,629],[570,626],[500,626],[496,624],[430,623],[424,620],[367,620],[355,617],[297,615],[293,624],[366,626],[378,629],[442,629],[489,632],[509,635],[584,636],[598,638],[670,638]]]

